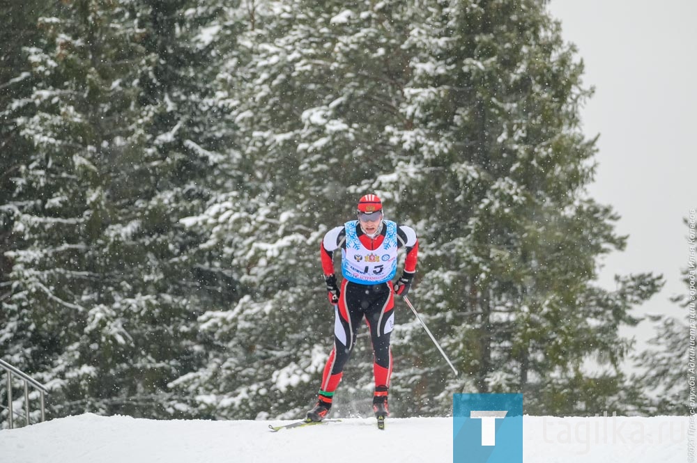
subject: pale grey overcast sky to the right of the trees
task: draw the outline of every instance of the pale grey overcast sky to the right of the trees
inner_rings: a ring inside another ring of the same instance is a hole
[[[615,208],[618,232],[629,235],[627,249],[604,260],[601,282],[663,274],[663,292],[636,314],[680,315],[668,298],[686,292],[683,220],[697,208],[697,1],[551,0],[549,10],[595,86],[581,113],[585,134],[600,134],[590,194]]]

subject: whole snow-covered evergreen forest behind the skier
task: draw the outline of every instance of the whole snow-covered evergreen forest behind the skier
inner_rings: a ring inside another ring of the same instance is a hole
[[[366,193],[417,231],[410,297],[461,372],[398,301],[393,415],[444,416],[461,392],[521,392],[526,414],[687,412],[682,322],[656,320],[648,352],[619,331],[661,276],[597,284],[627,237],[588,194],[592,88],[546,1],[23,0],[0,17],[0,358],[47,385],[48,417],[302,414],[333,329],[319,242]],[[337,409],[372,386],[364,330]]]

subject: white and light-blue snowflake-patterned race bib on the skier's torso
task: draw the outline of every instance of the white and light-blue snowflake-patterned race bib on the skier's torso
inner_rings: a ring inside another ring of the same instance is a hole
[[[397,223],[384,220],[387,233],[378,249],[367,249],[358,239],[358,221],[344,223],[346,249],[342,249],[342,274],[348,281],[377,285],[392,280],[397,273]]]

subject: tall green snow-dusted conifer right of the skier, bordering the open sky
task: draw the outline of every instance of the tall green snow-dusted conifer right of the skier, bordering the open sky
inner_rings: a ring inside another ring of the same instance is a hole
[[[450,393],[475,391],[526,393],[530,413],[597,410],[624,381],[631,342],[618,327],[636,322],[631,307],[659,278],[620,278],[614,292],[594,283],[599,258],[625,239],[585,191],[595,140],[579,121],[583,65],[544,2],[425,3],[408,34],[408,125],[394,130],[406,150],[377,185],[418,221],[414,299],[465,374],[449,381],[413,325],[395,367],[399,378],[420,366],[396,381],[408,412],[441,413]]]

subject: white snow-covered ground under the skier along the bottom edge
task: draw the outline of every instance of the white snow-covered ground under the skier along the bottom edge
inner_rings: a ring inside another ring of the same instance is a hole
[[[525,463],[686,463],[687,417],[523,418]],[[452,418],[372,418],[270,432],[279,421],[93,414],[0,431],[0,463],[452,462]]]

